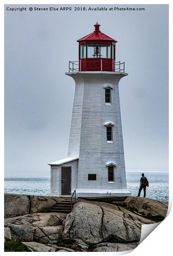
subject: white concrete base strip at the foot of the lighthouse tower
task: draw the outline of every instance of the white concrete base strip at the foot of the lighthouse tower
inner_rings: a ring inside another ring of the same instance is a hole
[[[76,190],[76,197],[129,197],[129,190]]]

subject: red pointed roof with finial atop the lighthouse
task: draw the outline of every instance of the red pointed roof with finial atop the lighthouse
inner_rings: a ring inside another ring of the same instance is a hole
[[[93,33],[80,38],[79,40],[77,40],[77,42],[82,42],[82,41],[86,41],[86,40],[106,40],[106,41],[112,41],[112,42],[117,43],[117,41],[115,39],[103,34],[100,31],[100,29],[99,29],[100,25],[98,23],[96,23],[94,26],[95,26],[95,30]]]

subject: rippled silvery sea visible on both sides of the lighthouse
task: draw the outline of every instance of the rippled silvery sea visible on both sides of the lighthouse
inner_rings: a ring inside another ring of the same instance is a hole
[[[126,171],[127,187],[132,196],[138,195],[141,173],[141,171]],[[144,173],[149,181],[146,197],[168,201],[168,171],[145,171]],[[50,178],[6,177],[5,193],[49,196]],[[140,195],[143,196],[143,190]]]

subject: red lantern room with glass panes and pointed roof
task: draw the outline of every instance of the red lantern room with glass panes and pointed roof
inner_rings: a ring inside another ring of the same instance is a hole
[[[79,42],[79,71],[115,71],[116,40],[103,34],[96,23],[93,33]]]

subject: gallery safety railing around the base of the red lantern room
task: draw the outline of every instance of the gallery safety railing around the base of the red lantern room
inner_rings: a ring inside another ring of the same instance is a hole
[[[104,60],[104,62],[103,62],[103,60],[102,59],[99,59],[99,60],[96,60],[96,61],[94,61],[94,62],[97,62],[96,63],[96,67],[93,67],[93,65],[92,65],[92,67],[90,66],[89,68],[87,68],[87,67],[83,67],[83,66],[81,66],[81,59],[80,59],[80,61],[76,61],[76,62],[71,62],[71,61],[69,61],[69,72],[77,72],[77,71],[98,71],[98,69],[100,69],[100,71],[112,71],[112,68],[111,68],[111,70],[110,69],[103,69],[103,63],[105,64],[105,63],[108,63],[108,64],[110,64],[110,62],[105,62],[105,60]],[[94,63],[93,61],[88,61],[88,60],[86,60],[85,61],[85,63],[87,63],[87,64],[89,64],[89,63],[91,63],[91,64],[93,64]],[[82,70],[81,70],[82,69]],[[115,72],[125,72],[125,62],[115,62]]]

